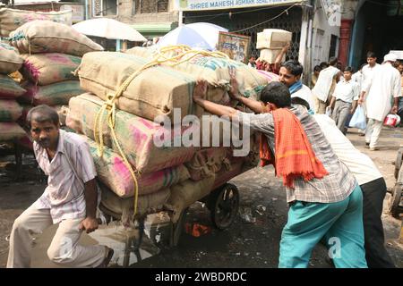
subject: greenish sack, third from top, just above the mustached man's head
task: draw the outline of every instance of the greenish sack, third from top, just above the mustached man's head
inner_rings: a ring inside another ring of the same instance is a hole
[[[27,90],[18,100],[30,105],[68,105],[70,98],[83,93],[78,80],[66,80],[47,86],[37,86],[32,82],[22,85]]]

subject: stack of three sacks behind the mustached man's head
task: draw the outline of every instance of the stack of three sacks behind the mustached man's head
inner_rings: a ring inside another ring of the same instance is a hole
[[[58,112],[71,97],[83,93],[73,74],[87,52],[102,50],[72,27],[56,21],[29,21],[10,33],[9,41],[23,58],[21,84],[26,92],[19,97],[23,116],[32,106],[49,105]]]

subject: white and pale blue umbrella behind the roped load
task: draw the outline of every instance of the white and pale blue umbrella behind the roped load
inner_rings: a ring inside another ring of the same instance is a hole
[[[182,25],[160,38],[157,45],[187,45],[194,48],[214,51],[219,42],[220,31],[227,32],[228,30],[206,22]]]

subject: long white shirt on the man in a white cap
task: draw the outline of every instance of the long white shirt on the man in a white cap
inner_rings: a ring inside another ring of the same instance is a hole
[[[373,80],[368,86],[365,97],[368,118],[383,122],[390,113],[393,97],[401,97],[401,76],[390,63],[384,63],[376,69]]]

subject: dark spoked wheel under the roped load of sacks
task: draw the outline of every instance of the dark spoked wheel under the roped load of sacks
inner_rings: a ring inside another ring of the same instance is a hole
[[[227,229],[236,218],[239,206],[239,192],[235,185],[225,184],[210,193],[211,221],[219,230]]]

